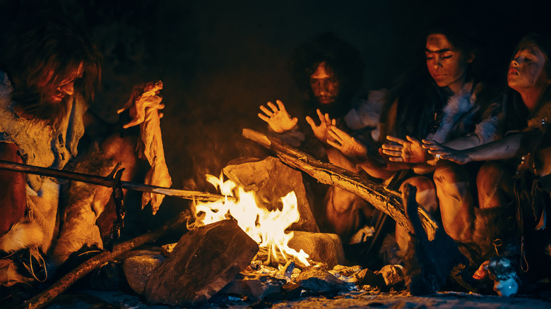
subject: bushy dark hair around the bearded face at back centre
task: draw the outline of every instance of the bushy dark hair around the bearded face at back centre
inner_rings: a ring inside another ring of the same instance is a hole
[[[336,102],[320,106],[310,87],[310,75],[323,62],[339,80],[340,89]],[[352,97],[362,90],[364,68],[360,52],[332,32],[325,32],[298,47],[290,61],[292,77],[307,101],[307,108],[321,108],[335,118],[348,112]]]

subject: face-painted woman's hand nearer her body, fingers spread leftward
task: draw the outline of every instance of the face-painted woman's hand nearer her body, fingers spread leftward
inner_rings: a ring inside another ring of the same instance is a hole
[[[389,156],[391,162],[404,163],[422,163],[426,162],[427,150],[422,147],[422,144],[416,138],[406,136],[407,140],[387,136],[386,139],[396,144],[382,145],[383,153]]]

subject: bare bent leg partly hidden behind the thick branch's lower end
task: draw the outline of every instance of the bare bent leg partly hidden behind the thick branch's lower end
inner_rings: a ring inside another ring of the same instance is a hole
[[[417,194],[415,200],[419,205],[425,208],[428,212],[434,213],[438,209],[438,202],[436,191],[434,190],[434,184],[425,176],[413,176],[406,179],[400,186],[400,191],[403,192],[405,185],[410,184],[417,188]],[[401,250],[408,248],[409,243],[409,231],[400,224],[396,224],[396,243]]]

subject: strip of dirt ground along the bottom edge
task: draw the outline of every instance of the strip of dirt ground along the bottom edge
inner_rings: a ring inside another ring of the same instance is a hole
[[[199,308],[550,308],[551,298],[547,301],[523,297],[482,296],[480,294],[444,292],[431,296],[415,297],[406,293],[379,293],[377,291],[354,291],[341,293],[332,298],[325,296],[307,296],[294,301],[274,303],[250,303],[238,298],[207,303]],[[122,292],[81,291],[59,296],[48,308],[133,308],[162,309],[174,308],[168,305],[147,305],[138,296]]]

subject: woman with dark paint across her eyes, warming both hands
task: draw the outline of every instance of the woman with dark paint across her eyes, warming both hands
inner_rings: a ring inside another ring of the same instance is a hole
[[[495,140],[501,132],[501,92],[485,83],[480,69],[484,61],[468,28],[439,24],[429,28],[425,39],[425,68],[408,73],[386,100],[378,136],[374,136],[381,145],[381,156],[367,152],[364,145],[334,126],[331,136],[335,141],[328,143],[391,188],[417,187],[417,202],[435,216],[439,210],[444,229],[454,240],[468,241],[470,230],[456,222],[469,222],[470,210],[442,199],[468,192],[470,182],[448,178],[450,190],[442,190],[440,183],[435,186],[431,174],[448,166],[437,162],[420,140],[433,138],[458,149]],[[470,205],[469,195],[465,196],[456,202]],[[408,238],[408,231],[396,225],[399,248],[407,248]]]

